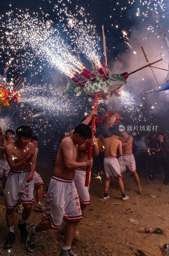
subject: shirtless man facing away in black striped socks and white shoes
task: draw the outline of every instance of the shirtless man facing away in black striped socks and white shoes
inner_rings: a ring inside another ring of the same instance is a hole
[[[115,132],[113,129],[109,129],[110,136],[104,139],[104,150],[105,150],[105,157],[104,157],[104,170],[106,174],[106,181],[104,183],[104,196],[103,200],[110,198],[108,196],[108,188],[110,185],[111,178],[116,178],[119,188],[122,193],[122,200],[127,200],[130,197],[125,195],[124,193],[124,185],[120,172],[120,166],[118,163],[118,158],[122,156],[122,142],[115,138]],[[117,156],[117,148],[119,150],[119,154]]]

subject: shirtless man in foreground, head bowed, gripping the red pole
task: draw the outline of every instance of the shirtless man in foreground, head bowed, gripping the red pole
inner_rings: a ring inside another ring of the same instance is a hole
[[[48,229],[59,230],[62,219],[69,220],[64,246],[60,256],[75,256],[70,246],[74,238],[79,221],[82,219],[81,208],[77,190],[74,186],[75,169],[91,167],[91,160],[76,162],[78,146],[91,138],[91,130],[88,125],[79,124],[74,133],[62,140],[56,158],[53,177],[50,180],[46,197],[45,212],[42,221],[37,226],[31,225],[26,241],[28,251],[35,250],[36,235]]]

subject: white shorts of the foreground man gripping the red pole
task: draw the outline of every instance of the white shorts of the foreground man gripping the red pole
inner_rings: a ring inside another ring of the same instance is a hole
[[[73,180],[52,176],[45,202],[42,220],[48,220],[52,229],[59,230],[65,220],[82,220],[77,189]]]

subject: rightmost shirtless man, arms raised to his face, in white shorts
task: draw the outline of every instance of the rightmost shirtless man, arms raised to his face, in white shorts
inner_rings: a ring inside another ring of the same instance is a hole
[[[142,195],[143,192],[142,188],[140,187],[139,177],[136,172],[136,163],[132,153],[133,137],[129,136],[126,130],[123,130],[122,132],[120,132],[120,134],[122,135],[122,137],[119,137],[119,139],[122,141],[123,155],[118,159],[118,162],[120,165],[121,173],[126,172],[126,166],[129,168],[137,183],[138,194]]]

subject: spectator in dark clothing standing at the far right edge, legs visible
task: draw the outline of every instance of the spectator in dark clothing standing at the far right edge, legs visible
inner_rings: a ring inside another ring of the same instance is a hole
[[[164,142],[164,133],[158,133],[157,134],[158,140],[152,142],[152,150],[155,153],[154,155],[154,164],[155,168],[153,173],[148,177],[149,180],[155,179],[158,174],[160,173],[161,166],[163,167],[163,170],[165,171],[165,179],[164,179],[164,185],[168,186],[169,182],[169,166],[167,164],[167,152],[166,152],[166,146]]]

